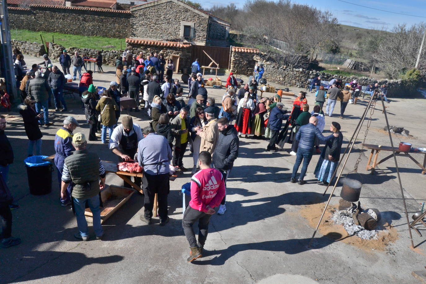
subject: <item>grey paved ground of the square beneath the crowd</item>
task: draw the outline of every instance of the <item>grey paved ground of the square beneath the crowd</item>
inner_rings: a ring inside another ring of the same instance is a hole
[[[27,63],[40,61],[29,56],[25,59]],[[114,80],[115,70],[107,66],[104,70],[108,72],[94,75],[95,84],[107,87],[108,82]],[[224,90],[208,88],[208,92],[219,102]],[[291,106],[292,100],[290,97],[283,99],[288,106]],[[74,115],[81,123],[84,122],[78,98],[66,98],[66,101],[69,113],[52,112],[50,117],[54,126],[43,126],[45,155],[54,152],[55,132],[66,115]],[[313,101],[314,98],[309,95],[308,102],[312,105]],[[389,104],[390,123],[409,129],[413,137],[408,141],[414,146],[426,146],[425,112],[421,111],[425,109],[425,102],[397,99]],[[349,105],[347,119],[326,119],[327,125],[333,120],[342,125],[344,145],[347,145],[363,109],[362,104]],[[143,112],[138,113],[137,121],[142,127],[148,123]],[[366,142],[389,145],[389,137],[380,130],[384,125],[381,111],[374,112]],[[87,135],[89,129],[83,124],[76,131]],[[365,128],[357,139],[345,173],[351,171],[361,151],[364,132]],[[308,168],[305,178],[308,184],[299,186],[288,182],[295,161],[295,157],[288,154],[288,149],[265,152],[266,141],[242,138],[239,158],[227,183],[227,211],[225,215],[214,215],[211,219],[206,256],[188,264],[185,260],[189,248],[181,228],[182,197],[179,192],[181,185],[189,181],[189,173],[179,175],[176,181],[171,182],[171,220],[167,226],[144,225],[139,220],[143,213],[143,198],[134,194],[104,224],[103,241],[80,242],[73,237],[77,229],[71,208],[59,205],[56,172],[52,175],[52,193],[43,196],[29,194],[23,166],[27,138],[22,120],[10,121],[7,135],[15,151],[9,187],[20,205],[20,209],[13,212],[13,233],[22,238],[22,244],[0,250],[1,283],[416,283],[411,271],[422,270],[424,266],[424,237],[413,232],[414,243],[420,246],[416,252],[409,249],[408,229],[393,160],[380,165],[377,174],[371,176],[365,170],[365,153],[368,153],[365,150],[362,150],[359,168],[364,183],[361,202],[366,208],[384,212],[386,221],[397,229],[399,235],[386,250],[363,249],[320,234],[308,249],[313,228],[300,215],[300,210],[306,205],[324,203],[328,197],[322,197],[325,188],[315,183],[313,175],[318,155],[314,156]],[[399,143],[398,137],[393,139],[394,143]],[[101,142],[90,143],[89,150],[97,152],[104,160],[116,161]],[[422,158],[417,154],[414,157]],[[411,160],[398,158],[398,163],[409,212],[416,212],[418,203],[425,199],[426,177],[420,174],[421,170]],[[192,166],[189,151],[184,157],[184,164]],[[114,175],[107,175],[107,184],[120,185],[121,181]],[[339,194],[340,188],[334,193],[336,197],[331,199],[332,204],[337,203]]]

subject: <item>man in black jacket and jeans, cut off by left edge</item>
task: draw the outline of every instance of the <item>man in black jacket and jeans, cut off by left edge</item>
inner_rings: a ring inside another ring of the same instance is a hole
[[[4,130],[6,129],[6,118],[0,115],[0,175],[6,184],[9,178],[9,165],[13,163],[13,149],[12,145],[7,139]],[[16,204],[9,204],[10,209],[19,208]],[[3,228],[4,231],[4,228]]]

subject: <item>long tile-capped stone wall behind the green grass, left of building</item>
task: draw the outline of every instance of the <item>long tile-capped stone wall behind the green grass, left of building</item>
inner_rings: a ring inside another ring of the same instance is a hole
[[[69,8],[75,7],[30,6],[29,10],[9,9],[10,29],[117,38],[125,38],[130,33],[131,14],[128,11]]]

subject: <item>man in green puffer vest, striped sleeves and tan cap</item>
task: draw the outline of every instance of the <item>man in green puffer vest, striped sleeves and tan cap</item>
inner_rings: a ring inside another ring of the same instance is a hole
[[[72,209],[77,218],[79,232],[75,233],[75,238],[82,241],[89,241],[87,221],[84,216],[86,204],[93,215],[93,229],[96,238],[101,239],[104,231],[101,226],[101,197],[100,191],[105,186],[106,172],[101,159],[94,152],[86,149],[87,141],[83,133],[75,133],[72,137],[72,146],[75,151],[68,156],[63,164],[62,183],[60,195],[66,198],[68,185],[74,184],[72,189]],[[99,181],[100,179],[100,181]]]

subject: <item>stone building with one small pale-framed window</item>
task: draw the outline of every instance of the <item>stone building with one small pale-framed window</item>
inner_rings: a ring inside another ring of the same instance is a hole
[[[155,0],[130,8],[130,37],[216,45],[228,37],[230,23],[179,0]]]

